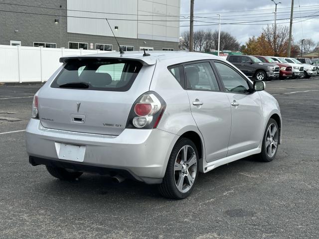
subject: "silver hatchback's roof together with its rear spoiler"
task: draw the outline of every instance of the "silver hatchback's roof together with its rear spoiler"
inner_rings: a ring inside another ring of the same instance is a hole
[[[170,59],[180,59],[180,62],[195,61],[201,59],[224,59],[200,52],[183,52],[183,51],[147,51],[150,56],[143,56],[143,51],[130,51],[120,54],[120,52],[102,52],[97,54],[89,54],[84,56],[64,56],[60,58],[60,62],[67,62],[69,59],[90,59],[90,58],[107,58],[107,59],[126,59],[126,60],[138,60],[143,65],[154,65],[157,60],[169,61]]]

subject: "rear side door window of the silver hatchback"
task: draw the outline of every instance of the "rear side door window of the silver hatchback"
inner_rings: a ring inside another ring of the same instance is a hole
[[[215,74],[208,62],[186,65],[187,89],[219,91]]]

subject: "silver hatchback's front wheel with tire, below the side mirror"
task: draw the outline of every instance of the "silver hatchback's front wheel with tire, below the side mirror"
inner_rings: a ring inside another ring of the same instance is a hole
[[[257,157],[264,162],[271,162],[275,158],[279,144],[279,128],[275,119],[269,119],[263,137],[261,152]]]

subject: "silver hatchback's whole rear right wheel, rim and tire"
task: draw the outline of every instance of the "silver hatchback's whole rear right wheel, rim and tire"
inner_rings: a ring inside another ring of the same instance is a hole
[[[194,188],[198,170],[195,144],[188,138],[178,139],[170,153],[166,172],[159,186],[160,194],[171,199],[188,197]]]

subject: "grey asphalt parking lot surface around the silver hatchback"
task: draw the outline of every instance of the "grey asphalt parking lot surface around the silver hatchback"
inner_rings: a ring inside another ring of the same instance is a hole
[[[283,116],[276,159],[200,174],[181,201],[154,185],[91,174],[63,182],[32,167],[16,130],[40,85],[0,85],[0,238],[318,239],[319,78],[266,85]]]

